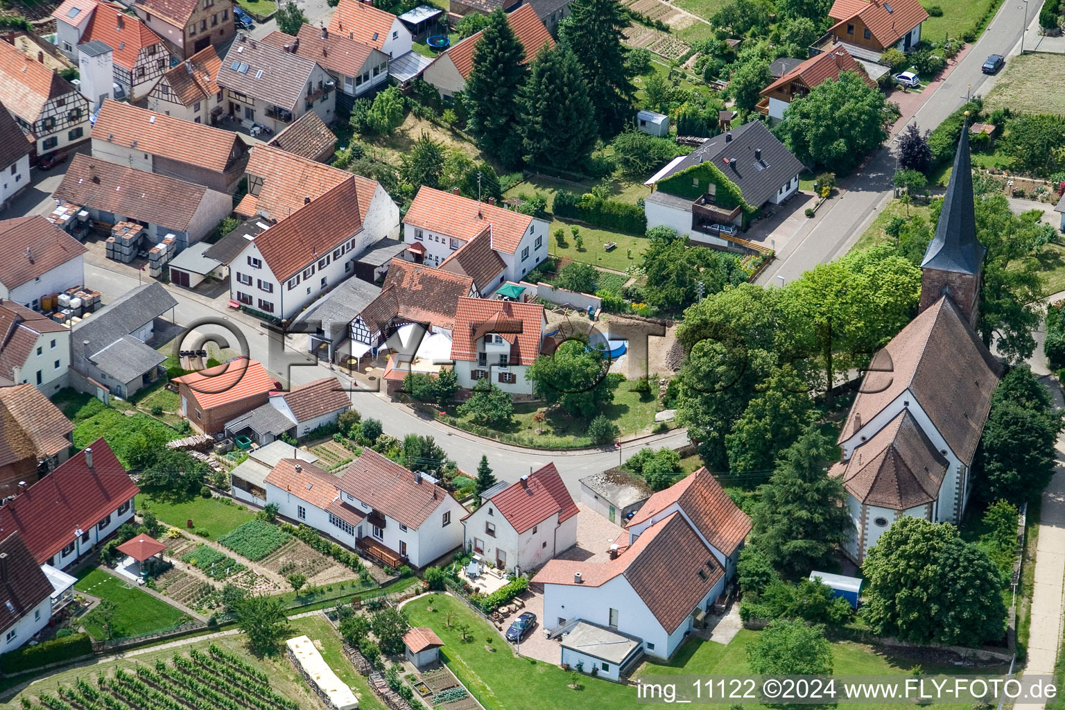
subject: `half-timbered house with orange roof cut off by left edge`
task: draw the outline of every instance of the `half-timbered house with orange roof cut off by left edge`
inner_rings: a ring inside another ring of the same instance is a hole
[[[0,97],[31,139],[34,155],[84,143],[88,100],[40,62],[0,42]]]

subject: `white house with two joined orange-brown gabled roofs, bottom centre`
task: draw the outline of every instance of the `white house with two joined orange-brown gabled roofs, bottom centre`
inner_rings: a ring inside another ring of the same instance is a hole
[[[735,575],[751,519],[704,467],[651,496],[626,528],[607,561],[552,560],[537,573],[544,628],[588,622],[669,658]]]

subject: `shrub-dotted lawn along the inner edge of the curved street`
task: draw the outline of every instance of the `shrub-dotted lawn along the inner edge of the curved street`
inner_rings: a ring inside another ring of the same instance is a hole
[[[655,423],[657,400],[650,394],[641,396],[640,393],[633,392],[630,389],[633,384],[630,381],[625,381],[618,385],[613,401],[596,412],[596,415],[604,414],[613,422],[623,435],[648,429]],[[537,422],[536,417],[540,413],[545,413],[545,416],[543,420]],[[469,429],[472,425],[461,419],[459,426]],[[536,433],[537,429],[542,429],[543,433]],[[591,446],[591,441],[586,435],[587,429],[587,419],[571,417],[558,408],[546,410],[537,402],[517,402],[510,425],[501,429],[478,428],[476,431],[523,446],[579,448]]]

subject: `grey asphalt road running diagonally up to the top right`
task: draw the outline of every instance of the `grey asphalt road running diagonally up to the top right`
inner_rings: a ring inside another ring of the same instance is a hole
[[[1042,2],[1030,3],[1029,20],[1033,13],[1038,14],[1041,6]],[[968,96],[987,94],[995,85],[996,77],[983,73],[980,67],[988,54],[1019,53],[1023,12],[1020,0],[1005,0],[976,46],[917,110],[910,122],[916,122],[921,132],[931,130],[961,108]],[[895,169],[895,144],[891,142],[858,168],[857,175],[848,179],[848,191],[833,201],[828,212],[812,220],[809,228],[792,237],[781,250],[776,263],[767,268],[757,282],[782,285],[820,263],[847,253],[890,199]]]

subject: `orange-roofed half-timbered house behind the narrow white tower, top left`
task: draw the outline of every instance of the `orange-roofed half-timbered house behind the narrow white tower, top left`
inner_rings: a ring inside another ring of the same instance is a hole
[[[83,5],[88,7],[82,10]],[[122,11],[121,6],[103,0],[66,0],[52,17],[61,51],[79,62],[80,45],[102,42],[112,50],[115,83],[130,101],[140,101],[170,68],[170,52],[147,24]]]

